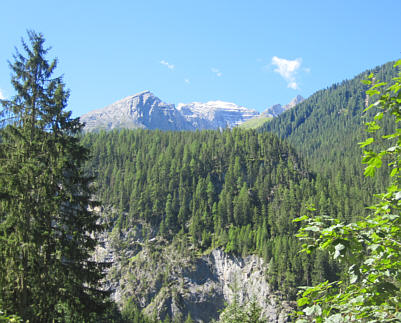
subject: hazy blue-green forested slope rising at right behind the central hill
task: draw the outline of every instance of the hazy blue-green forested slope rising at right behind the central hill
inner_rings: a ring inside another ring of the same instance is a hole
[[[361,149],[357,143],[366,137],[364,124],[376,112],[372,109],[363,114],[368,87],[361,81],[371,72],[376,80],[390,81],[397,73],[393,64],[384,64],[316,92],[294,109],[266,123],[262,131],[287,139],[320,173],[352,181],[354,185],[373,185],[363,178]],[[375,188],[385,185],[380,176],[375,180]]]

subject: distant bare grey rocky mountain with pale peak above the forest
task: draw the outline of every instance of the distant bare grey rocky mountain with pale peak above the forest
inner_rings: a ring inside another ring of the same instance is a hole
[[[83,115],[81,121],[86,123],[86,131],[119,128],[201,130],[232,128],[257,115],[255,110],[223,101],[179,104],[176,108],[145,91],[91,111]]]

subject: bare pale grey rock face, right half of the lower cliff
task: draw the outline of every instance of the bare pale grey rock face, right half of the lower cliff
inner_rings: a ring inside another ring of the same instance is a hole
[[[263,259],[255,255],[238,257],[220,249],[202,257],[195,271],[184,275],[195,278],[186,288],[191,295],[187,301],[191,317],[199,322],[209,322],[210,316],[205,317],[205,310],[216,318],[223,308],[221,305],[230,304],[237,297],[240,304],[256,302],[267,322],[286,322],[292,307],[271,290],[266,281],[267,267]]]

